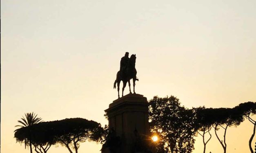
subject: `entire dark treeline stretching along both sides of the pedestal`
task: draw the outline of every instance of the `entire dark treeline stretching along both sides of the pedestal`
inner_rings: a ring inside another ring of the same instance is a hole
[[[226,133],[228,127],[236,127],[244,120],[252,123],[253,131],[249,139],[249,149],[256,131],[256,121],[252,115],[256,114],[256,103],[241,103],[234,108],[205,108],[188,109],[180,104],[175,96],[160,98],[154,96],[149,101],[149,125],[152,135],[158,135],[155,144],[156,153],[191,153],[194,150],[195,136],[203,138],[203,153],[207,143],[215,135],[218,142],[227,151]],[[70,153],[78,153],[81,142],[105,142],[109,138],[108,127],[101,127],[100,123],[83,118],[69,118],[49,122],[41,122],[36,114],[27,113],[18,122],[20,129],[15,130],[17,142],[24,143],[36,153],[47,153],[52,145],[65,146]],[[219,129],[224,130],[220,136]],[[214,131],[214,132],[213,132]],[[109,142],[109,141],[107,141]]]

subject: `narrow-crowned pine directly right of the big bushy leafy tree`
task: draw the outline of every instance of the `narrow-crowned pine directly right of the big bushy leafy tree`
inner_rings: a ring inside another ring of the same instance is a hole
[[[205,107],[198,107],[195,109],[195,111],[196,111],[196,129],[197,129],[198,134],[203,137],[203,144],[204,144],[203,153],[205,153],[206,144],[211,139],[210,130],[214,123],[211,118],[211,114],[209,114],[208,110],[209,109],[205,109]],[[207,133],[209,133],[209,136],[210,136],[208,139],[205,138],[205,135]]]

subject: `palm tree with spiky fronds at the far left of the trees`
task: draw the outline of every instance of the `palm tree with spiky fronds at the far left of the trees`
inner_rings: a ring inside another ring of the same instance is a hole
[[[18,120],[18,122],[22,125],[16,125],[15,127],[30,127],[31,125],[34,125],[38,122],[41,122],[42,118],[37,118],[37,115],[32,113],[25,114],[25,118],[22,116],[21,120]],[[18,131],[19,129],[16,129],[14,132]],[[16,142],[24,142],[25,148],[29,145],[30,153],[32,153],[32,144],[31,144],[31,135],[25,139],[16,139]]]

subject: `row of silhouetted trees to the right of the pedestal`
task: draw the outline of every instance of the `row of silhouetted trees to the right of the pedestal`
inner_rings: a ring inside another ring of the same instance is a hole
[[[180,105],[174,96],[160,98],[155,96],[149,101],[149,119],[151,132],[160,137],[156,144],[157,153],[191,153],[194,149],[195,136],[202,136],[205,153],[206,145],[212,137],[211,129],[217,137],[223,152],[227,151],[226,132],[228,127],[236,127],[245,119],[249,120],[254,129],[249,138],[249,149],[255,135],[256,121],[252,115],[256,114],[256,103],[241,103],[234,108],[205,108],[187,109]],[[220,136],[219,129],[224,130]],[[206,138],[206,135],[207,138]]]

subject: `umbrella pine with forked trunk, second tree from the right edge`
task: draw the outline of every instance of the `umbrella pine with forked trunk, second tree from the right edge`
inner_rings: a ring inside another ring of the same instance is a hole
[[[226,133],[227,128],[232,126],[238,126],[241,122],[243,122],[243,116],[238,114],[234,109],[231,108],[214,108],[208,109],[209,113],[212,114],[212,118],[214,119],[214,132],[215,135],[220,142],[224,153],[227,150],[226,143]],[[217,134],[218,129],[224,129],[223,140]]]

